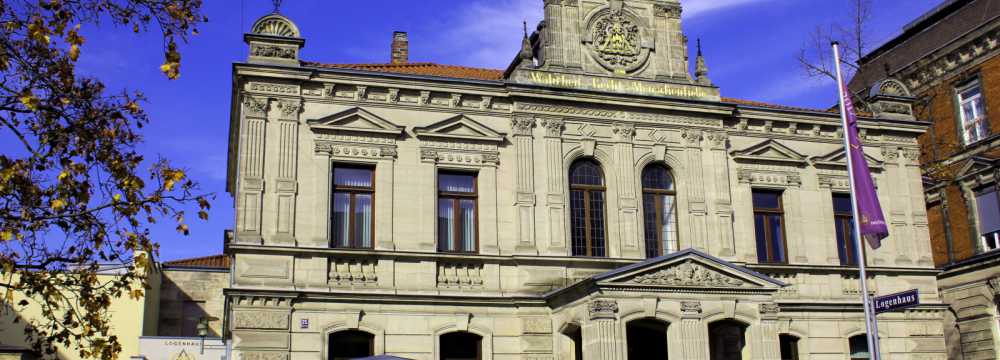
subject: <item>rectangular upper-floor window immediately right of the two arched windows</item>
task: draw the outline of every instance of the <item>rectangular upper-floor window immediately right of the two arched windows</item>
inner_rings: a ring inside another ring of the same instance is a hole
[[[761,263],[787,263],[781,192],[753,190],[753,216],[757,260]]]

